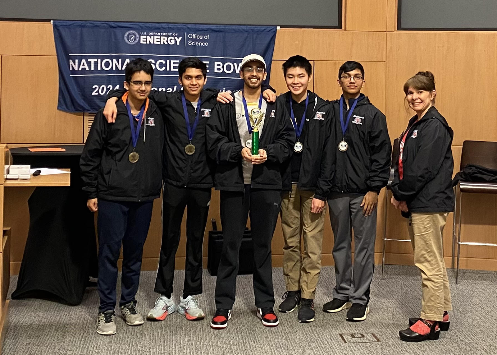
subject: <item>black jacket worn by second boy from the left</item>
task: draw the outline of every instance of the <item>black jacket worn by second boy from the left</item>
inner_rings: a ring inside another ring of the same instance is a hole
[[[120,97],[124,90],[112,90],[107,98]],[[161,110],[166,126],[166,141],[163,153],[163,177],[166,183],[175,186],[208,188],[214,181],[215,162],[207,156],[205,141],[205,124],[211,116],[216,105],[218,90],[204,89],[200,93],[200,117],[197,129],[191,144],[195,146],[195,153],[185,153],[185,146],[189,143],[188,131],[183,113],[181,96],[183,91],[157,91],[150,92],[150,99]],[[193,122],[196,110],[191,103],[186,101],[189,122]],[[190,126],[191,127],[191,126]]]

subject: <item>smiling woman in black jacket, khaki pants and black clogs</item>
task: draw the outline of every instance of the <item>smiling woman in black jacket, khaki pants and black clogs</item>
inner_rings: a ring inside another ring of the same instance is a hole
[[[448,330],[452,310],[443,259],[442,232],[454,208],[451,178],[453,131],[435,108],[435,79],[418,72],[404,84],[406,101],[416,115],[399,138],[400,152],[392,182],[392,204],[409,218],[414,265],[421,271],[423,298],[420,318],[410,318],[401,340],[436,340]]]

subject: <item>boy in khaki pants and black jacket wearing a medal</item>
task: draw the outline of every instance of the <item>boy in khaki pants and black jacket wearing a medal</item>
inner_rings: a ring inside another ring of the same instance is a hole
[[[300,304],[298,321],[310,323],[321,271],[325,201],[333,177],[333,110],[330,102],[307,89],[312,66],[306,58],[290,57],[283,63],[283,75],[289,91],[277,100],[292,119],[297,141],[283,178],[280,215],[286,292],[278,310],[289,313]]]

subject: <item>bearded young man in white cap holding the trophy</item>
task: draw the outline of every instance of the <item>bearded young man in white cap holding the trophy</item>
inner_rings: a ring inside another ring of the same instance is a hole
[[[214,329],[226,328],[232,316],[239,250],[248,215],[257,316],[264,326],[278,325],[273,310],[271,239],[280,210],[281,170],[293,151],[295,131],[281,101],[271,103],[263,99],[261,84],[266,75],[266,64],[261,56],[246,56],[240,69],[244,89],[234,94],[233,102],[217,105],[207,122],[207,149],[217,163],[214,185],[221,190],[223,227],[216,313],[211,321]],[[251,122],[249,113],[260,113],[262,119]],[[257,155],[252,155],[250,148],[255,142],[251,140],[251,131],[257,127],[259,150]]]

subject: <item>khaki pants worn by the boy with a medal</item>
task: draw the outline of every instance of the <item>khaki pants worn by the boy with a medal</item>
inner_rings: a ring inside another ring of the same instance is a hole
[[[302,298],[314,299],[321,272],[321,250],[326,205],[321,213],[311,213],[314,192],[300,190],[292,183],[292,192],[281,200],[283,275],[287,291],[302,291]],[[301,234],[304,253],[301,253]]]

